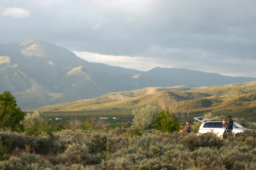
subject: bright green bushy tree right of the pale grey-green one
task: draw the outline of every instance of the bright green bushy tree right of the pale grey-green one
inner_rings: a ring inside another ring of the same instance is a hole
[[[162,110],[158,113],[158,118],[156,118],[157,129],[163,130],[165,132],[174,132],[179,129],[179,123],[176,117],[173,117],[169,111]]]

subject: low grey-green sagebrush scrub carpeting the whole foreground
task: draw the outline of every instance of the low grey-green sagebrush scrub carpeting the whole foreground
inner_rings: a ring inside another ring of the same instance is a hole
[[[255,138],[255,131],[227,139],[136,128],[62,130],[52,137],[1,131],[0,169],[254,170]]]

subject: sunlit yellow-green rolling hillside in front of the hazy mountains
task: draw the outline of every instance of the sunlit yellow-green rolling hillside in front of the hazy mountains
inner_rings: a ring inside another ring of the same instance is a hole
[[[155,90],[152,90],[155,89]],[[162,89],[162,90],[158,90]],[[155,91],[154,93],[148,93]],[[243,84],[233,84],[211,88],[196,89],[166,89],[166,88],[143,88],[141,90],[123,91],[106,94],[104,96],[80,100],[71,103],[61,103],[58,105],[45,106],[42,108],[27,110],[39,110],[43,112],[51,111],[112,111],[127,112],[127,110],[139,108],[146,105],[159,105],[165,101],[168,106],[168,99],[177,99],[177,107],[183,107],[178,111],[186,113],[184,109],[186,102],[192,104],[191,114],[203,115],[208,112],[220,115],[234,115],[245,117],[256,121],[256,82]]]

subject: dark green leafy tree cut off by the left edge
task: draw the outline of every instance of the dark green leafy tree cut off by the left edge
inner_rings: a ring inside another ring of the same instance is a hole
[[[4,91],[0,94],[0,128],[10,128],[17,130],[17,125],[24,119],[26,115],[16,104],[15,97],[11,95],[11,91]]]

